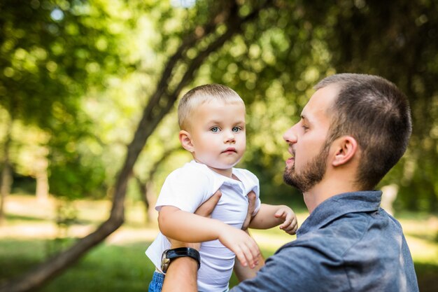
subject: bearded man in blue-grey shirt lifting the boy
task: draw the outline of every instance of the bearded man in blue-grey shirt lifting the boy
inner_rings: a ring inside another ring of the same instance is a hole
[[[400,223],[374,190],[406,151],[407,98],[362,74],[329,76],[315,89],[283,136],[284,180],[302,191],[310,216],[295,241],[231,291],[418,291]],[[197,291],[196,271],[190,257],[172,260],[163,292]]]

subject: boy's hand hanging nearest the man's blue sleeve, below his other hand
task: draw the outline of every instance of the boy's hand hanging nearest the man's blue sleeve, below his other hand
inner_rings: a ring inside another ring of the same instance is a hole
[[[243,267],[253,268],[258,265],[260,249],[253,237],[241,229],[226,225],[219,234],[219,241],[236,254]]]

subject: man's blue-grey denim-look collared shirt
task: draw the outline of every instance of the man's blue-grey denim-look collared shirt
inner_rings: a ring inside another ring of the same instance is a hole
[[[295,241],[232,291],[418,291],[402,227],[380,202],[377,190],[325,200]]]

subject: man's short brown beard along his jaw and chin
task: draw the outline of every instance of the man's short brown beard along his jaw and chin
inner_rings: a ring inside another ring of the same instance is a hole
[[[283,173],[283,180],[290,186],[300,190],[302,193],[313,188],[316,183],[323,180],[325,170],[327,169],[327,156],[330,146],[325,144],[323,149],[316,155],[311,162],[304,165],[301,172],[295,171],[295,161],[291,169],[286,167]]]

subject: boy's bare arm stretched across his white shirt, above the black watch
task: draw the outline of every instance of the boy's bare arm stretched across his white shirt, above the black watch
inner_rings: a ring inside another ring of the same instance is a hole
[[[181,242],[206,242],[219,239],[236,254],[243,266],[254,267],[260,255],[260,249],[254,239],[246,232],[216,219],[204,218],[176,207],[164,206],[160,209],[158,224],[164,236]]]

